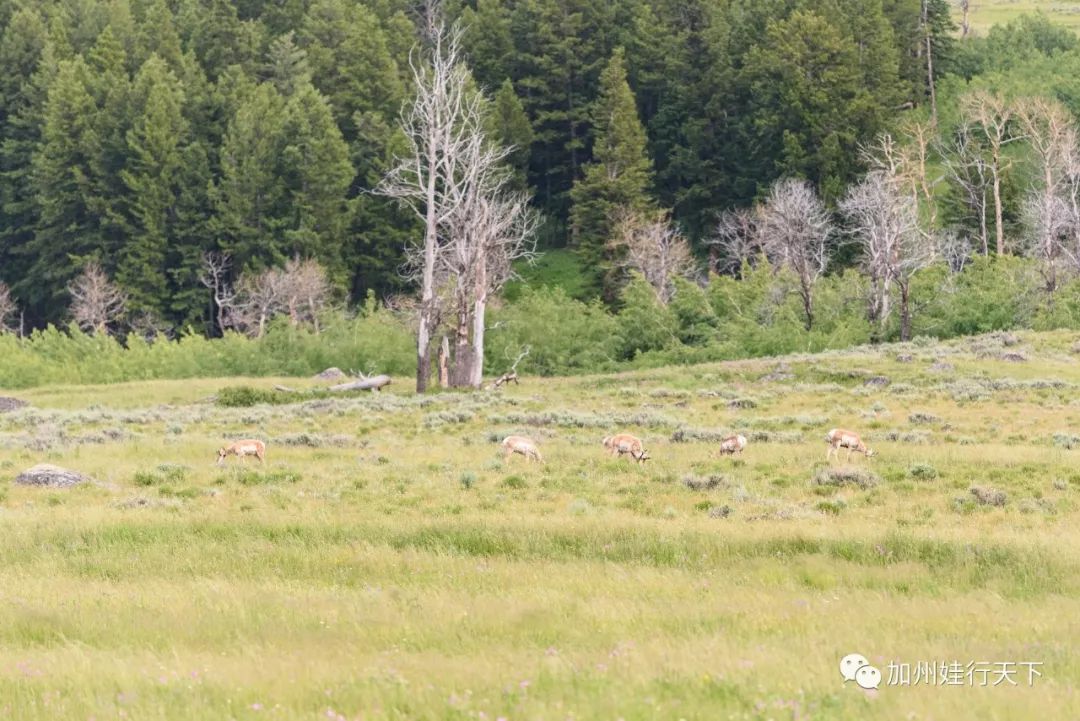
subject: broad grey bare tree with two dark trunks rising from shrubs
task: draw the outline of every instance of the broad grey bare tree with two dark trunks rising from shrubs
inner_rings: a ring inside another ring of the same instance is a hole
[[[934,247],[919,228],[918,208],[904,180],[872,171],[840,202],[851,233],[863,250],[870,277],[870,317],[883,337],[891,315],[893,286],[900,296],[900,338],[912,338],[912,277],[934,259]]]

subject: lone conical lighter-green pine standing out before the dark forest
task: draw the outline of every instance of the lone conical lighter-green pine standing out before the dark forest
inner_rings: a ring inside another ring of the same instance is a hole
[[[609,268],[605,248],[611,240],[612,214],[618,209],[644,210],[651,205],[648,191],[652,164],[646,152],[645,130],[637,118],[634,93],[626,83],[622,50],[600,74],[600,94],[593,108],[596,140],[594,162],[573,186],[573,244],[586,268]],[[605,295],[612,297],[611,280],[605,278]]]

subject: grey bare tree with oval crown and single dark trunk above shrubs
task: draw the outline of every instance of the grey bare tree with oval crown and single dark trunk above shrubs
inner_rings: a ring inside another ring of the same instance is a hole
[[[806,314],[813,327],[813,289],[828,266],[833,225],[813,188],[806,180],[783,178],[772,185],[761,206],[761,245],[775,268],[795,273]]]

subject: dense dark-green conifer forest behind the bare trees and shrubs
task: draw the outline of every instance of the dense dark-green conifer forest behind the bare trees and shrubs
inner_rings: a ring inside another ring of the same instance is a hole
[[[234,276],[318,260],[353,301],[405,290],[415,221],[367,191],[400,148],[418,4],[0,2],[0,280],[25,323],[66,321],[90,259],[129,311],[212,334],[206,251],[229,254]],[[575,225],[575,206],[595,199],[571,191],[596,162],[616,53],[647,167],[636,187],[594,195],[645,193],[698,243],[717,210],[782,175],[837,198],[862,169],[858,144],[923,104],[927,35],[934,73],[954,44],[944,0],[453,0],[446,12],[517,148],[541,245],[586,258],[603,239]]]

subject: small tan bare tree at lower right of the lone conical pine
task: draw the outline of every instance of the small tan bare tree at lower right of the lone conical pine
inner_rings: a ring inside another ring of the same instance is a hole
[[[674,295],[672,281],[680,275],[692,276],[697,271],[690,244],[666,213],[620,213],[612,245],[623,251],[617,254],[622,266],[644,275],[665,304]]]

